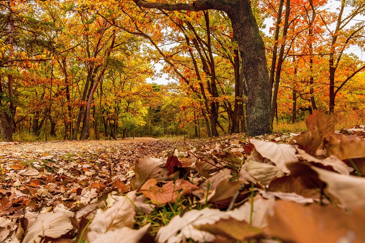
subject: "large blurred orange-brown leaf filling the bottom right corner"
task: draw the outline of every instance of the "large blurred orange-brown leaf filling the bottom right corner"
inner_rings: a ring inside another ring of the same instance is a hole
[[[268,235],[287,242],[364,242],[365,213],[356,210],[350,216],[338,208],[317,204],[303,206],[292,201],[276,201],[274,214],[268,215]],[[352,236],[356,239],[350,240]],[[341,241],[342,239],[342,241]]]

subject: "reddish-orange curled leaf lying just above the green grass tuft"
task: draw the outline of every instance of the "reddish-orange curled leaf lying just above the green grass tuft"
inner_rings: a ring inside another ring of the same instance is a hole
[[[199,189],[199,187],[183,179],[179,179],[175,183],[169,181],[162,187],[159,187],[157,186],[156,179],[152,178],[143,184],[139,191],[145,197],[150,198],[153,203],[165,204],[167,202],[176,202],[181,196],[191,194],[196,189]]]

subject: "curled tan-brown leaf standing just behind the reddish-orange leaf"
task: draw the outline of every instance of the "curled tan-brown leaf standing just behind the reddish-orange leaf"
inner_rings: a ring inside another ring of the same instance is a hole
[[[147,180],[154,178],[157,181],[165,181],[168,177],[169,170],[161,167],[164,166],[166,161],[157,158],[145,158],[142,159],[134,169],[135,178],[131,180],[132,189],[139,189],[142,184]]]

